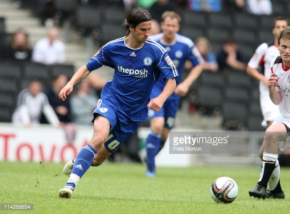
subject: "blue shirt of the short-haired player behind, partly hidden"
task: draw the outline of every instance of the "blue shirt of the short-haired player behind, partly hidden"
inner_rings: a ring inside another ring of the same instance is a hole
[[[193,66],[196,66],[198,64],[204,63],[203,57],[201,56],[197,47],[194,45],[191,39],[182,36],[181,34],[176,34],[175,42],[168,44],[162,41],[162,36],[163,33],[159,33],[150,36],[150,39],[156,41],[166,49],[170,59],[176,66],[179,73],[179,76],[175,78],[176,84],[180,84],[182,82],[181,77],[184,71],[186,60],[190,60]],[[154,89],[159,88],[159,90],[161,90],[164,88],[164,86],[165,82],[163,81],[163,79],[159,79],[156,83],[156,86],[154,86]],[[172,94],[172,96],[174,96],[174,94]]]

